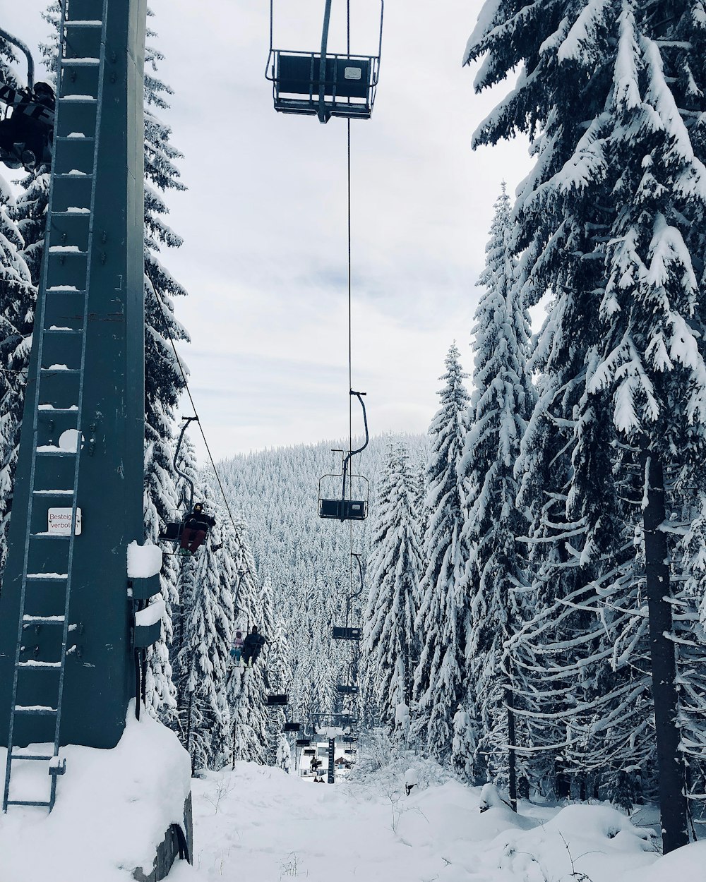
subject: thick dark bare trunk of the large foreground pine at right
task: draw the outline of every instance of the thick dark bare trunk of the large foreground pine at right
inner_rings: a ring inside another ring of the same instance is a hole
[[[642,512],[645,536],[645,581],[650,617],[650,661],[655,704],[659,811],[665,855],[687,845],[687,798],[684,793],[684,761],[677,726],[677,665],[672,633],[672,605],[667,560],[665,521],[665,475],[656,452],[645,449],[646,500]]]

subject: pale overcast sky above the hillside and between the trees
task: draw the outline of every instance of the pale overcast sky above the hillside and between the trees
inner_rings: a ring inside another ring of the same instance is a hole
[[[12,4],[2,24],[34,47],[45,5]],[[275,48],[316,50],[323,0],[274,5]],[[162,262],[189,291],[176,304],[192,336],[181,353],[212,451],[343,437],[346,123],[274,112],[267,0],[150,6],[174,89],[161,116],[188,187],[168,198],[184,245]],[[427,429],[453,340],[470,370],[492,203],[529,168],[522,143],[470,149],[499,98],[475,95],[461,66],[480,6],[387,0],[375,109],[351,124],[353,387],[368,393],[373,434]],[[345,45],[344,7],[334,0],[332,50]],[[351,17],[351,51],[373,54],[378,0],[352,0]]]

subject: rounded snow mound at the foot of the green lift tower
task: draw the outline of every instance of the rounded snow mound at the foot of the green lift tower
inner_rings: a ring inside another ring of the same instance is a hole
[[[0,748],[0,786],[5,756]],[[164,833],[182,824],[191,789],[189,755],[176,735],[146,714],[135,720],[131,702],[113,750],[69,745],[61,756],[66,774],[51,814],[19,806],[0,813],[2,882],[131,882],[136,867],[148,874]],[[28,789],[49,796],[44,763],[14,764],[11,794],[23,798]]]

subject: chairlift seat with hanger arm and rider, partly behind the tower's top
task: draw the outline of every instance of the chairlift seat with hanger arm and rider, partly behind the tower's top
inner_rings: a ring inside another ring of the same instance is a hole
[[[0,37],[26,57],[26,86],[0,82],[0,161],[8,168],[32,172],[50,163],[54,140],[56,94],[49,83],[34,82],[34,59],[25,43],[0,28]]]

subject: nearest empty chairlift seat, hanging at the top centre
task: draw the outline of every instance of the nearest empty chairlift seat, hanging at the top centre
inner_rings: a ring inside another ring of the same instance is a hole
[[[296,52],[273,47],[274,0],[270,0],[270,51],[266,77],[273,84],[274,109],[280,113],[370,119],[378,86],[384,0],[380,0],[378,54],[328,52],[332,0],[326,0],[320,52]],[[350,30],[348,22],[348,43]]]

